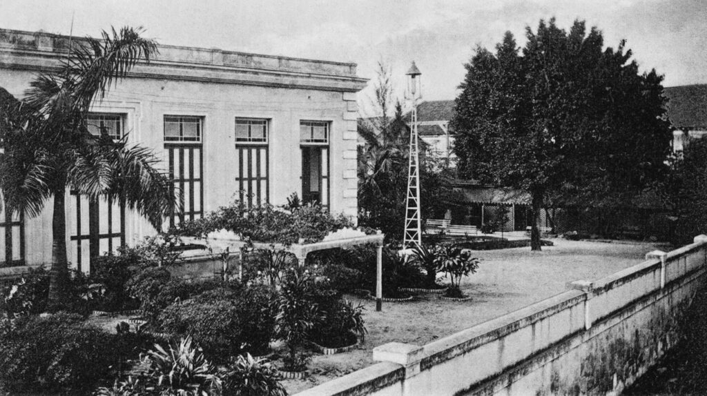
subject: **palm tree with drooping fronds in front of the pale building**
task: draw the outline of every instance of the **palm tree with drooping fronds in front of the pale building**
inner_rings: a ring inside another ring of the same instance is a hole
[[[66,189],[95,199],[110,197],[136,210],[156,228],[175,196],[168,178],[155,168],[150,150],[114,142],[88,132],[90,105],[102,100],[111,85],[127,76],[138,61],[157,51],[153,40],[140,37],[141,28],[103,32],[103,40],[74,41],[71,52],[55,72],[41,73],[18,101],[6,91],[0,106],[0,190],[8,210],[37,216],[53,199],[52,269],[49,302],[57,304],[66,292]]]

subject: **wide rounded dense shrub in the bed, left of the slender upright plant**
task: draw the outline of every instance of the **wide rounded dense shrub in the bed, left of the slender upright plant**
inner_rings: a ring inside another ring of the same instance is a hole
[[[211,359],[265,353],[274,335],[273,299],[267,287],[214,289],[165,308],[160,327],[191,335]]]

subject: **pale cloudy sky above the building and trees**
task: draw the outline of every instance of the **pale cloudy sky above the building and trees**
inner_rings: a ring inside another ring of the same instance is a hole
[[[525,44],[525,29],[575,19],[620,40],[641,70],[664,85],[707,83],[707,0],[0,0],[0,28],[97,36],[113,26],[143,26],[160,44],[221,48],[358,64],[372,85],[378,62],[402,96],[411,61],[422,72],[424,100],[450,100],[478,46],[492,49],[506,31]],[[373,112],[369,86],[359,93]]]

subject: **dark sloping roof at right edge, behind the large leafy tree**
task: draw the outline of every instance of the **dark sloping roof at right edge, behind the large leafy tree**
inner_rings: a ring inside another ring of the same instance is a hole
[[[707,128],[707,84],[665,88],[668,117],[675,128]]]

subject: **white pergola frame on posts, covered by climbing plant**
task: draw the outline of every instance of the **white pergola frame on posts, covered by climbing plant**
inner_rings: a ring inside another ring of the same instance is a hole
[[[385,235],[378,231],[377,234],[367,235],[357,229],[340,229],[330,233],[324,240],[305,244],[300,240],[297,244],[273,244],[262,241],[243,241],[238,234],[221,230],[211,232],[206,238],[182,237],[182,241],[187,244],[202,244],[206,241],[212,248],[221,248],[221,251],[238,251],[239,277],[243,276],[243,254],[245,248],[268,249],[274,251],[286,251],[292,253],[298,260],[299,265],[305,265],[307,255],[314,251],[323,251],[331,248],[350,248],[357,245],[375,244],[376,246],[376,282],[375,282],[375,310],[382,309],[382,270],[383,270],[383,239]]]

